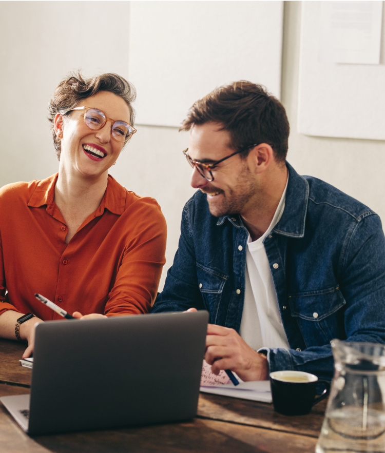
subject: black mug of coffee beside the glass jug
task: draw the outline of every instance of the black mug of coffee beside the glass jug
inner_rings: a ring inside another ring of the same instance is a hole
[[[325,388],[316,397],[318,384]],[[326,398],[330,382],[304,371],[274,371],[270,373],[274,409],[283,415],[305,415],[312,407]]]

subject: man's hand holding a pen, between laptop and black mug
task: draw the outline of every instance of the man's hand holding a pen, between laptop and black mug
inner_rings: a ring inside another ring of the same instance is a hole
[[[268,379],[267,358],[228,327],[208,324],[205,359],[216,375],[222,369],[230,369],[243,381]]]

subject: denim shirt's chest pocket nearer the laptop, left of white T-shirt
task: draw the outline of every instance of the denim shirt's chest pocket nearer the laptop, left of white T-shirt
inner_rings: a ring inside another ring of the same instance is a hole
[[[223,294],[223,287],[228,277],[215,269],[210,269],[197,263],[197,278],[203,303],[210,314],[210,322],[215,323]]]

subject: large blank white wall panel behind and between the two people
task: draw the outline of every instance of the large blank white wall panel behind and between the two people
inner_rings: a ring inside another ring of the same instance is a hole
[[[179,126],[189,107],[236,80],[280,96],[283,2],[131,2],[129,80],[137,123]]]

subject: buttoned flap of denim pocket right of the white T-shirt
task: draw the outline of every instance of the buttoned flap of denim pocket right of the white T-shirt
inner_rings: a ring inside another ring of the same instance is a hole
[[[321,321],[346,304],[338,286],[290,294],[288,302],[293,317],[308,321]]]

